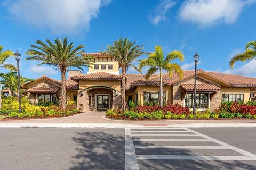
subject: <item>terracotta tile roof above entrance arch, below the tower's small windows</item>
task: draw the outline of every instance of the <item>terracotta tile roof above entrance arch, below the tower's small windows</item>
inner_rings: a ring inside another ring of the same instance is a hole
[[[121,77],[119,75],[110,74],[106,72],[97,72],[97,73],[73,76],[70,79],[72,80],[121,80]]]

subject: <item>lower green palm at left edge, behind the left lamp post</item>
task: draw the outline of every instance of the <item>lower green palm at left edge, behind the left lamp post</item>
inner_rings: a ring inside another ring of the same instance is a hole
[[[8,88],[11,91],[11,96],[13,96],[13,92],[18,92],[18,76],[17,72],[10,71],[7,73],[0,73],[0,83],[3,88]],[[32,81],[33,79],[25,78],[20,76],[20,83],[26,83]]]

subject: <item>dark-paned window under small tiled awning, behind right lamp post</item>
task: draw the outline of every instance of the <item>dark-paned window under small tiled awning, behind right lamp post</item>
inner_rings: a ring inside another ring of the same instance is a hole
[[[186,94],[185,107],[193,108],[194,106],[194,94]],[[197,93],[196,94],[196,108],[208,107],[208,94]]]

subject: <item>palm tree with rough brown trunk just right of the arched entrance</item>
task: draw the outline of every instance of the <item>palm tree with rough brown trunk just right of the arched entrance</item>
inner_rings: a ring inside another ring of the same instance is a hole
[[[125,103],[125,77],[126,71],[128,67],[133,67],[135,70],[138,70],[136,66],[132,63],[136,61],[136,59],[144,54],[143,45],[135,45],[136,42],[131,42],[129,39],[123,37],[114,41],[113,45],[107,45],[107,49],[105,50],[111,57],[115,58],[119,66],[121,67],[121,110],[124,111],[126,108]]]

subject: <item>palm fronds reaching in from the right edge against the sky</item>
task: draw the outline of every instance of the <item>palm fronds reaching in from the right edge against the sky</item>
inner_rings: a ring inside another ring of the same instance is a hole
[[[245,52],[242,54],[237,54],[233,58],[231,58],[229,64],[230,67],[233,68],[235,62],[242,61],[245,62],[247,60],[256,60],[256,41],[250,41],[247,43],[245,47]]]

